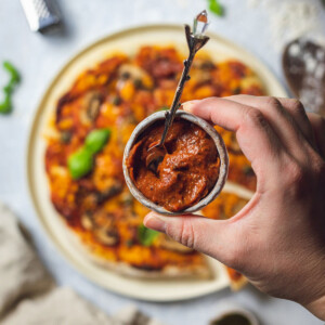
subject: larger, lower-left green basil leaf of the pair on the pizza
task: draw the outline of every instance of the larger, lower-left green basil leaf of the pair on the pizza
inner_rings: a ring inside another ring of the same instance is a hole
[[[68,157],[67,165],[72,178],[79,180],[92,170],[93,156],[87,148],[81,147]]]

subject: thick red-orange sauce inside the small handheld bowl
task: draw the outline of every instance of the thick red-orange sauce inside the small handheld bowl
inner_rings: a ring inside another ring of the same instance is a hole
[[[208,195],[219,176],[219,156],[213,140],[198,126],[176,120],[165,142],[167,154],[156,171],[146,167],[148,147],[157,143],[164,121],[154,123],[135,143],[127,167],[145,197],[169,211],[182,211]]]

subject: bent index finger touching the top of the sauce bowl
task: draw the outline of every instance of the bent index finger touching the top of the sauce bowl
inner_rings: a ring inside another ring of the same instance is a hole
[[[184,103],[183,108],[236,132],[239,146],[250,160],[260,184],[265,173],[281,172],[283,145],[259,109],[220,98],[210,98],[190,105]]]

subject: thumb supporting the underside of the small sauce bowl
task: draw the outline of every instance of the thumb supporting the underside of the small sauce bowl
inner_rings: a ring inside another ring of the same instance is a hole
[[[236,238],[232,234],[230,220],[212,220],[193,214],[165,217],[150,212],[144,219],[144,225],[224,264],[233,264]]]

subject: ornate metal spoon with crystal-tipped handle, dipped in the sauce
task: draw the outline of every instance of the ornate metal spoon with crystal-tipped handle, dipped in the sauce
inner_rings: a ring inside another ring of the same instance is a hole
[[[154,143],[148,148],[148,155],[146,157],[146,167],[151,169],[153,172],[157,171],[158,165],[162,161],[165,155],[167,154],[166,147],[165,147],[165,140],[168,133],[168,130],[170,129],[174,115],[178,110],[178,108],[181,106],[180,100],[183,93],[183,89],[185,86],[185,82],[190,80],[190,68],[192,66],[194,56],[196,52],[202,49],[207,41],[209,40],[208,36],[205,36],[205,31],[209,25],[208,22],[208,14],[204,10],[200,12],[195,18],[193,24],[193,32],[191,31],[191,27],[188,25],[185,25],[185,35],[187,40],[187,46],[190,50],[188,57],[184,61],[184,69],[181,76],[181,79],[179,81],[171,107],[169,110],[166,112],[166,120],[165,120],[165,129],[161,135],[161,139],[159,143]]]

